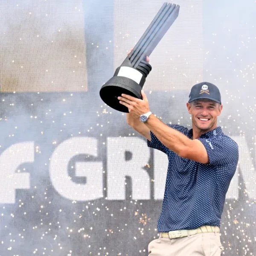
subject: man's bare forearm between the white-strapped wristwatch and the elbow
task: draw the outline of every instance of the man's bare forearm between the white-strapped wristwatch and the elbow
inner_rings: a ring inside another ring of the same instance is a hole
[[[161,122],[154,114],[151,114],[145,122],[145,125],[154,133],[154,135],[170,150],[182,156],[187,147],[191,147],[192,140],[181,132],[169,127]]]

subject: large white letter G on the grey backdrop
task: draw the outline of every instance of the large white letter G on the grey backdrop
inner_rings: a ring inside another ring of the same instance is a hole
[[[79,154],[97,157],[97,140],[73,137],[58,145],[52,154],[49,173],[54,188],[63,197],[76,201],[95,200],[103,197],[102,162],[77,162],[76,176],[87,178],[85,184],[75,183],[68,175],[68,163]]]

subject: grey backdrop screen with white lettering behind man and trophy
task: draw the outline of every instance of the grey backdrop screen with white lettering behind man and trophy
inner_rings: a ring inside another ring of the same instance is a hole
[[[0,256],[148,255],[168,159],[99,90],[163,3],[0,1]],[[239,145],[223,255],[256,256],[255,3],[175,3],[143,89],[163,122],[192,128],[190,88],[219,87],[218,126]]]

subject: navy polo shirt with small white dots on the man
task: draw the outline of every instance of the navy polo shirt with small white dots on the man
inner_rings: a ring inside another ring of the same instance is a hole
[[[169,125],[192,139],[192,129]],[[167,148],[151,131],[148,146],[167,154],[169,165],[163,206],[157,221],[158,232],[196,229],[203,225],[220,227],[225,196],[236,172],[237,143],[223,134],[221,127],[202,134],[200,140],[209,164],[180,157]]]

